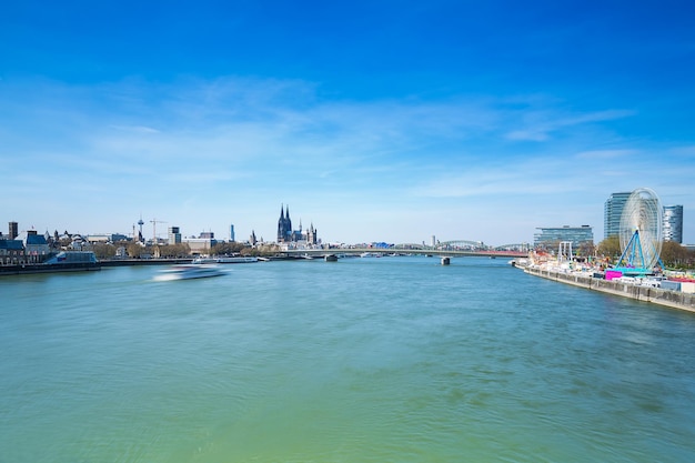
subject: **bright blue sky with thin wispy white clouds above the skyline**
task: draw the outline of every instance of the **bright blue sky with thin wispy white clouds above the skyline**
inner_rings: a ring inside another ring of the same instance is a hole
[[[0,14],[0,220],[273,241],[603,239],[613,192],[695,243],[689,1],[49,1]]]

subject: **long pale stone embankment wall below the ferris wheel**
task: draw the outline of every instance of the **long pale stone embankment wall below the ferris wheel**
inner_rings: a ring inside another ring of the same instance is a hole
[[[674,309],[695,312],[695,294],[688,294],[681,291],[662,290],[661,288],[637,286],[615,280],[608,281],[592,278],[591,275],[555,272],[532,266],[524,268],[524,272],[587,290],[601,291],[624,298],[636,299],[638,301],[652,302],[654,304],[667,305]]]

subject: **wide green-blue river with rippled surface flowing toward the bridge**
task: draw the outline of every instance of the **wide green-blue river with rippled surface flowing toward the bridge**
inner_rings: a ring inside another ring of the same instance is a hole
[[[0,278],[0,462],[693,462],[695,314],[506,259]]]

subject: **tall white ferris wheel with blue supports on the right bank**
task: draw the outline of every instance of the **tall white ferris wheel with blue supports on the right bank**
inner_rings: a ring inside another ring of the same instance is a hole
[[[663,209],[648,188],[632,192],[621,215],[620,240],[623,255],[618,265],[649,272],[659,262],[663,244]]]

